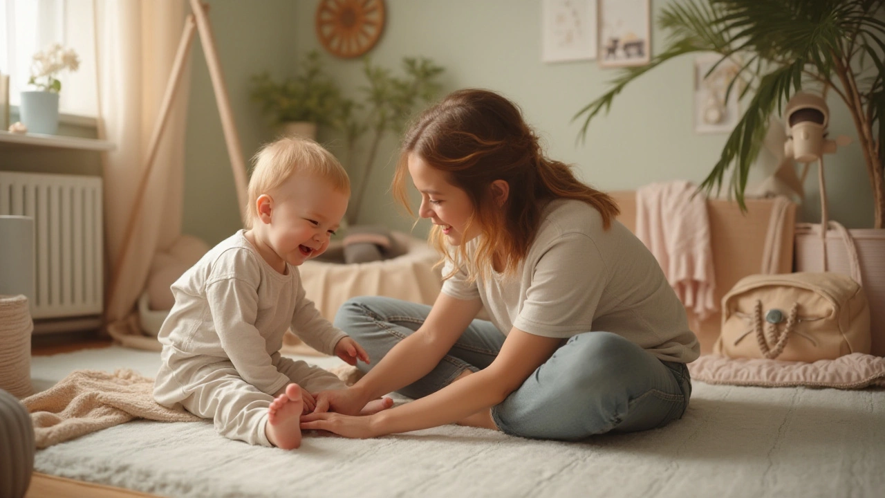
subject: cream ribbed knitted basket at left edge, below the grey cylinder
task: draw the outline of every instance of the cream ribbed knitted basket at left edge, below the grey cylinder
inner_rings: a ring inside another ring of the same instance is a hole
[[[27,298],[0,295],[0,389],[18,398],[34,393],[31,387],[33,330]]]

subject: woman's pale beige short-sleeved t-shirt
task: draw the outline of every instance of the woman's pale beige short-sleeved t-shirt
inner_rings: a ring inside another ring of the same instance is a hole
[[[476,242],[467,243],[468,261]],[[452,268],[447,263],[443,275]],[[504,335],[513,327],[550,338],[609,331],[668,362],[692,362],[700,353],[658,261],[620,222],[604,230],[599,212],[580,200],[544,207],[535,240],[512,276],[493,272],[470,284],[462,267],[443,292],[481,299]]]

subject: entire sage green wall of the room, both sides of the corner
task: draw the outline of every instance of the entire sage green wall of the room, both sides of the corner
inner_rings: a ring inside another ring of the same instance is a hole
[[[252,74],[268,70],[293,74],[306,51],[319,48],[313,28],[317,0],[209,0],[210,17],[243,155],[249,160],[274,130],[249,100]],[[658,12],[667,0],[652,2]],[[674,60],[645,75],[616,98],[608,116],[597,118],[585,144],[576,144],[580,124],[571,122],[582,105],[602,94],[617,70],[595,61],[541,62],[541,3],[538,0],[386,0],[388,21],[381,41],[369,52],[373,61],[398,71],[404,56],[433,58],[446,67],[444,91],[462,87],[495,89],[522,106],[543,136],[550,156],[577,165],[581,177],[604,190],[635,189],[673,179],[700,182],[719,157],[726,135],[696,135],[692,128],[692,60]],[[665,34],[657,29],[652,48],[661,51]],[[194,45],[187,126],[183,230],[215,244],[240,225],[230,161],[221,131],[212,83],[200,43]],[[332,60],[329,69],[355,93],[364,80],[358,60]],[[856,136],[840,102],[831,100],[831,135]],[[72,134],[89,136],[89,130]],[[340,140],[319,139],[333,152]],[[388,222],[408,230],[411,220],[389,196],[396,137],[381,147],[366,194],[364,222]],[[91,172],[95,153],[0,148],[0,168],[67,167]],[[27,166],[22,166],[27,165]],[[873,201],[857,144],[827,156],[831,215],[853,228],[873,222]],[[351,171],[351,176],[356,176]],[[805,219],[819,214],[816,173],[802,209]],[[416,233],[426,233],[426,222]]]

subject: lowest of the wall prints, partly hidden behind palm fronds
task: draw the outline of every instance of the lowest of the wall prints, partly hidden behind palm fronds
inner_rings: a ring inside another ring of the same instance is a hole
[[[730,133],[741,120],[743,84],[735,82],[726,101],[728,84],[735,79],[741,67],[733,60],[724,60],[710,73],[722,56],[711,53],[695,58],[695,132]],[[710,73],[707,75],[707,73]]]

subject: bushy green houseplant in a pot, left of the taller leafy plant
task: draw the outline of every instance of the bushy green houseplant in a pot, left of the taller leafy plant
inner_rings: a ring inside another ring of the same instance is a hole
[[[252,100],[269,114],[273,124],[309,121],[329,125],[342,107],[341,89],[325,72],[318,51],[298,62],[298,74],[275,82],[270,74],[252,76]]]

